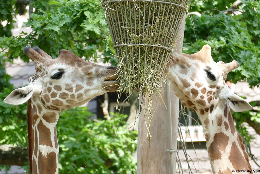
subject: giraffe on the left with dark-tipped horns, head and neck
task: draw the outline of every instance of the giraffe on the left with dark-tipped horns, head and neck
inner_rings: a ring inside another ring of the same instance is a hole
[[[15,89],[5,99],[18,105],[28,101],[28,153],[31,173],[59,173],[56,124],[62,110],[80,106],[97,95],[118,89],[116,67],[86,62],[69,50],[53,59],[39,47],[24,53],[35,63],[29,85]]]

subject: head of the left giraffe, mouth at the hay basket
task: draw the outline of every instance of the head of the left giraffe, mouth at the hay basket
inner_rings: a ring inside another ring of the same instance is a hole
[[[28,86],[12,91],[5,103],[22,104],[34,95],[47,109],[66,110],[118,89],[114,66],[86,62],[69,50],[60,50],[56,59],[39,47],[27,46],[24,53],[35,63],[36,73]]]

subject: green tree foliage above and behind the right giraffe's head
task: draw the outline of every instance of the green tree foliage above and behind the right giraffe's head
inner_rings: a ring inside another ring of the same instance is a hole
[[[216,11],[199,11],[201,17],[192,15],[193,22],[186,22],[184,43],[190,44],[184,45],[184,52],[191,54],[209,44],[216,62],[228,63],[233,59],[239,62],[239,68],[229,73],[227,80],[234,83],[245,80],[250,86],[259,86],[260,23],[257,21],[260,18],[260,4],[252,0],[242,2],[243,13],[240,15],[232,16],[218,11],[217,14]]]

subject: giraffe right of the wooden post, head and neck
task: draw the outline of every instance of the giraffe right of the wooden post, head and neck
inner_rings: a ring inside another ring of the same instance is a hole
[[[174,52],[167,65],[175,94],[186,107],[196,111],[202,123],[213,173],[251,170],[231,109],[242,112],[253,107],[225,83],[227,74],[238,66],[235,60],[214,62],[209,45],[192,55]]]

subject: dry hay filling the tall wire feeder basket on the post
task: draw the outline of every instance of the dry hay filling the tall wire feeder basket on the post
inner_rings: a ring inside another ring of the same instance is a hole
[[[162,93],[168,56],[189,0],[107,0],[106,19],[118,59],[119,95]],[[146,110],[152,119],[151,100]],[[149,126],[147,126],[149,127]]]

